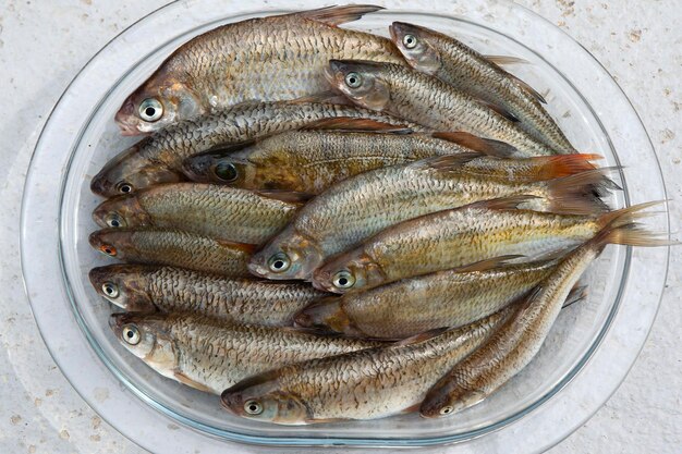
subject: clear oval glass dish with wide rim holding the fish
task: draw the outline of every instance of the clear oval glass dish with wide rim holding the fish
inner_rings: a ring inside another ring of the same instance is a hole
[[[45,342],[74,388],[123,434],[157,452],[178,446],[218,452],[231,442],[253,443],[248,451],[451,443],[452,451],[527,452],[551,446],[592,416],[646,339],[666,280],[667,248],[609,246],[584,278],[589,297],[561,312],[532,364],[490,398],[449,419],[405,415],[308,427],[249,422],[222,410],[216,396],[158,376],[119,345],[107,323],[112,307],[87,279],[90,268],[111,261],[87,242],[96,230],[90,212],[100,201],[89,181],[136,140],[120,136],[114,112],[173,49],[220,24],[281,12],[229,3],[172,3],[126,29],[73,81],[36,147],[22,211],[22,266]],[[527,60],[510,70],[546,95],[549,111],[576,148],[604,156],[604,165],[624,165],[616,172],[624,191],[610,204],[666,199],[646,131],[585,49],[511,2],[466,1],[449,13],[386,10],[349,26],[387,35],[392,21],[414,22],[484,53]],[[651,218],[650,228],[667,233],[667,210],[663,214]]]

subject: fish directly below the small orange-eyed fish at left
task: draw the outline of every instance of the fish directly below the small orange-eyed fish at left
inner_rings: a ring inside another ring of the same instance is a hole
[[[176,267],[109,265],[88,273],[97,293],[129,312],[192,312],[244,324],[287,327],[328,296],[300,282],[226,278]]]

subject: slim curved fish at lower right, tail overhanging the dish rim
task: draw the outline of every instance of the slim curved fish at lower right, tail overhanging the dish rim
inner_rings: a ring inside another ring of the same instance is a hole
[[[643,204],[651,206],[653,204]],[[425,418],[454,415],[485,400],[523,369],[540,349],[561,306],[587,267],[607,244],[665,246],[633,219],[642,206],[613,214],[593,240],[576,248],[545,278],[511,318],[476,352],[444,375],[428,392],[419,414]]]

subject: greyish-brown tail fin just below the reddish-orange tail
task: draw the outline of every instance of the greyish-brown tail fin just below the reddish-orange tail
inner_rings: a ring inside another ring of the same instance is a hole
[[[547,187],[548,211],[587,216],[608,211],[609,207],[598,196],[606,192],[606,187],[614,184],[605,175],[613,169],[592,169],[544,182]]]

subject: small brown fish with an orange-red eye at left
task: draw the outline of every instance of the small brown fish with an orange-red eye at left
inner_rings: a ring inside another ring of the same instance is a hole
[[[214,240],[180,230],[102,229],[89,236],[93,248],[133,263],[168,265],[234,278],[248,277],[256,246]]]

